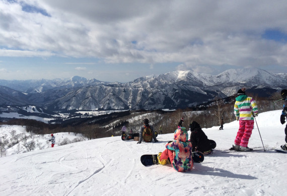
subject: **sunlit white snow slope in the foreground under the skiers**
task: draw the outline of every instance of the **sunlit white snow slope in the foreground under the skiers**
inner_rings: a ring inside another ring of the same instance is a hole
[[[159,143],[110,137],[2,157],[0,195],[286,195],[287,154],[272,150],[284,144],[280,113],[256,118],[266,152],[227,150],[238,121],[203,129],[217,148],[189,172],[140,163],[141,155],[163,151],[173,134],[159,135]],[[256,123],[248,146],[263,149]]]

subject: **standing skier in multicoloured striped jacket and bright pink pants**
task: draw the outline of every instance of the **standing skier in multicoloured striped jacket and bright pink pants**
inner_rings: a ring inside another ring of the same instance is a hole
[[[250,151],[248,148],[249,138],[254,126],[254,116],[258,115],[256,101],[245,94],[245,88],[237,92],[236,102],[234,104],[234,114],[239,120],[239,129],[231,149],[238,151]]]

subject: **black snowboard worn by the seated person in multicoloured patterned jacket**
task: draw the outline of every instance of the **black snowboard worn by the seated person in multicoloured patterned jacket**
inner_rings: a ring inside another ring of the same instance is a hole
[[[194,163],[201,163],[204,160],[204,156],[200,152],[193,152],[192,153],[192,160]],[[142,155],[140,157],[140,162],[142,165],[150,166],[150,165],[158,165],[158,154],[154,155]]]

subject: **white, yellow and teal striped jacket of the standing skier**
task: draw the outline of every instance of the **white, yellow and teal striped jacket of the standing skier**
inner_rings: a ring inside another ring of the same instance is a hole
[[[234,104],[234,113],[236,119],[239,120],[254,120],[254,115],[257,115],[257,104],[252,97],[247,95],[240,95],[236,97],[236,102]]]

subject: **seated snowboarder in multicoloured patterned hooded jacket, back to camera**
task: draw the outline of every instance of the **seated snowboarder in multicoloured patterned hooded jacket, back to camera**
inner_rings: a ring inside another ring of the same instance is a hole
[[[166,149],[158,155],[161,165],[172,163],[176,171],[189,171],[193,167],[192,144],[188,141],[185,127],[179,126],[175,130],[174,141],[166,144]]]

